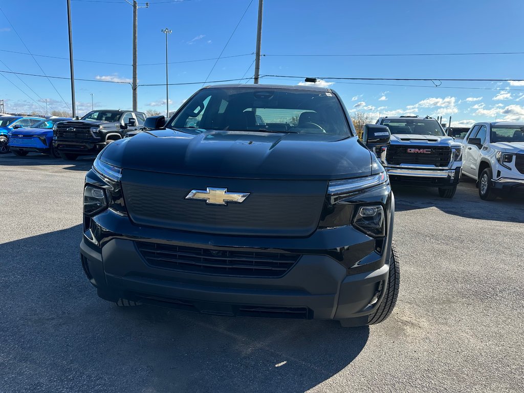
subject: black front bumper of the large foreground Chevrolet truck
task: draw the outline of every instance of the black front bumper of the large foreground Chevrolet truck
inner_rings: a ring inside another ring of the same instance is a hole
[[[220,315],[363,318],[365,323],[387,286],[392,213],[388,221],[388,235],[377,252],[375,241],[351,226],[317,230],[308,238],[225,236],[137,226],[107,210],[84,223],[80,252],[86,276],[110,301],[124,298]],[[301,256],[279,277],[206,275],[152,266],[137,241]],[[354,258],[353,265],[336,260],[333,252]]]

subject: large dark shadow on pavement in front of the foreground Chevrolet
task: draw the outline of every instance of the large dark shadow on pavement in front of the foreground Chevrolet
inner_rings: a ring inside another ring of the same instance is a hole
[[[308,390],[350,364],[369,328],[232,318],[97,298],[81,226],[0,245],[3,391]]]

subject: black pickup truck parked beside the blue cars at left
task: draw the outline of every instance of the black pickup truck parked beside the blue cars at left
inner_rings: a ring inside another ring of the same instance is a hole
[[[80,120],[53,126],[53,145],[63,159],[97,155],[111,142],[122,139],[129,130],[144,126],[142,112],[121,110],[91,111]]]

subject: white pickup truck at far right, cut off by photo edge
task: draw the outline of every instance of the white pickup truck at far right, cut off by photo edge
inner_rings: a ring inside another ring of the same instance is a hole
[[[500,191],[524,191],[524,122],[476,123],[462,145],[462,173],[477,180],[482,199],[493,201]]]

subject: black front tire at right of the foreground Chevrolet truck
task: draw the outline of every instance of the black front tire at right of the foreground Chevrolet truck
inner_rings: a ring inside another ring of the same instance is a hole
[[[382,301],[378,305],[378,307],[375,309],[374,312],[369,314],[367,317],[367,321],[365,319],[361,318],[348,318],[345,320],[341,320],[340,324],[346,328],[346,327],[352,327],[352,326],[363,326],[363,325],[374,325],[376,323],[380,323],[385,321],[389,314],[391,314],[391,311],[395,308],[395,304],[397,303],[398,298],[398,291],[400,288],[400,267],[399,267],[399,259],[397,254],[397,249],[395,248],[395,245],[391,245],[391,256],[389,257],[389,276],[388,276],[388,282],[386,286],[386,293],[384,293],[384,297],[382,298]]]

